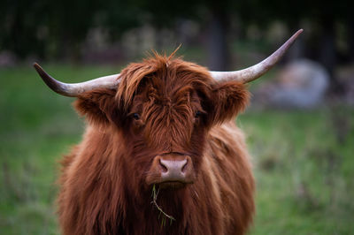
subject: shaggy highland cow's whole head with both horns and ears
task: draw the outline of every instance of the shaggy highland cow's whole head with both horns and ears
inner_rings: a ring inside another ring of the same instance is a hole
[[[140,183],[180,187],[196,179],[208,130],[245,108],[245,83],[273,67],[301,32],[261,63],[235,72],[210,72],[157,54],[79,84],[54,80],[38,64],[35,69],[55,92],[77,97],[75,106],[91,125],[117,130],[131,170],[145,172]]]

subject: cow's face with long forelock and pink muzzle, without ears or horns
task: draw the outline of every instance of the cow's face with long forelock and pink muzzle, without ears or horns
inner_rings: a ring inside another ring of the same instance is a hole
[[[198,86],[208,87],[207,77],[182,69],[169,64],[146,74],[129,105],[125,140],[148,185],[193,183],[201,162],[211,104]]]

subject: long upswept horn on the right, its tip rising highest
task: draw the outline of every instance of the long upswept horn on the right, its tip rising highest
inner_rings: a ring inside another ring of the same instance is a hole
[[[298,30],[294,35],[292,35],[292,37],[289,38],[287,42],[281,46],[281,48],[277,49],[271,56],[267,57],[262,62],[239,71],[211,71],[212,78],[215,80],[239,80],[243,83],[257,80],[260,76],[268,72],[268,70],[270,70],[281,59],[289,47],[295,42],[297,36],[303,33],[303,31],[303,29]]]

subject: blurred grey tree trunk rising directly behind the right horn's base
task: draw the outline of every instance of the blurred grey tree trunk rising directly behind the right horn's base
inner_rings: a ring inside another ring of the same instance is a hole
[[[228,69],[227,34],[227,14],[212,9],[212,19],[207,31],[208,67],[211,70],[226,71]]]

